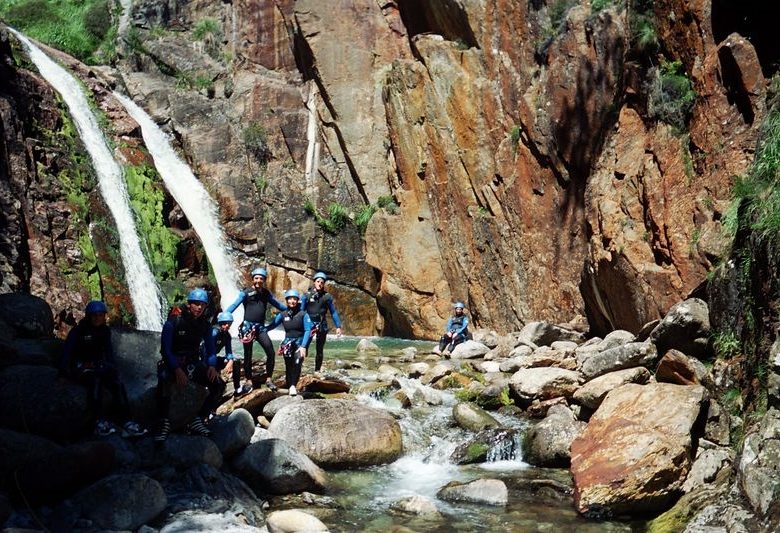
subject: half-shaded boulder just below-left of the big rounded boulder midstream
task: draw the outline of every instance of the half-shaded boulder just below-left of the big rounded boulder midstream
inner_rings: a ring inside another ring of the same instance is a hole
[[[290,494],[326,486],[325,472],[282,439],[250,444],[231,464],[241,479],[260,492]]]

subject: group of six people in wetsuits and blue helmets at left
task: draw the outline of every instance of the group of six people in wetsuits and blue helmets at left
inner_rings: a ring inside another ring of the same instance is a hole
[[[219,406],[226,389],[226,383],[220,377],[220,370],[232,370],[234,398],[250,392],[253,386],[254,342],[260,344],[266,354],[265,383],[276,391],[277,387],[273,381],[275,354],[268,331],[279,325],[285,330],[279,353],[285,362],[285,387],[288,393],[293,396],[297,394],[296,385],[303,360],[313,339],[316,339],[315,371],[321,370],[328,332],[328,313],[336,326],[336,333],[341,334],[341,319],[333,297],[325,290],[327,276],[323,272],[317,272],[313,286],[303,296],[296,289],[287,290],[284,294],[286,305],[281,304],[265,287],[267,277],[268,273],[264,268],[253,270],[252,285],[242,290],[237,300],[217,315],[217,323],[214,326],[206,316],[209,296],[204,289],[193,289],[187,295],[186,304],[171,309],[162,328],[161,359],[157,364],[156,442],[164,443],[171,431],[170,406],[173,387],[183,387],[189,381],[206,387],[208,396],[186,429],[194,435],[211,434],[206,421]],[[244,306],[244,321],[239,327],[239,336],[244,345],[243,365],[241,357],[233,353],[229,331],[233,323],[232,313],[239,305]],[[266,324],[269,306],[275,307],[280,313]],[[75,378],[88,388],[88,401],[97,417],[97,435],[105,436],[117,431],[116,426],[103,416],[102,391],[107,388],[111,392],[117,417],[122,424],[122,435],[140,436],[147,431],[129,420],[127,394],[114,364],[106,313],[107,308],[103,302],[93,301],[87,305],[84,319],[71,330],[66,340],[60,365],[61,373]],[[217,354],[223,349],[224,356],[218,357]],[[240,376],[242,367],[246,379],[243,385]]]

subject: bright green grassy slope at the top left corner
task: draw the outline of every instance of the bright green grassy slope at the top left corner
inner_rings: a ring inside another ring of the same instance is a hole
[[[89,64],[116,59],[113,0],[0,0],[0,18]]]

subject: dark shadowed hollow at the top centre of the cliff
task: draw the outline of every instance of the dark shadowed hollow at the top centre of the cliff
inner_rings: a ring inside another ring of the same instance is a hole
[[[398,11],[411,40],[435,33],[462,46],[478,48],[466,12],[453,0],[398,0]]]

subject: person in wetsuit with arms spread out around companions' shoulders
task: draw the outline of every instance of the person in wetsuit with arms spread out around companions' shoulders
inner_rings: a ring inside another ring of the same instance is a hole
[[[285,307],[265,288],[267,278],[268,271],[266,269],[254,269],[252,271],[252,286],[242,290],[236,301],[227,308],[227,311],[232,313],[239,305],[244,305],[244,321],[238,328],[238,332],[241,343],[244,345],[244,379],[246,379],[246,383],[241,387],[239,396],[252,390],[252,345],[255,341],[265,351],[265,384],[269,389],[276,390],[276,385],[273,382],[274,346],[265,327],[265,315],[269,305],[279,311],[284,311]]]

